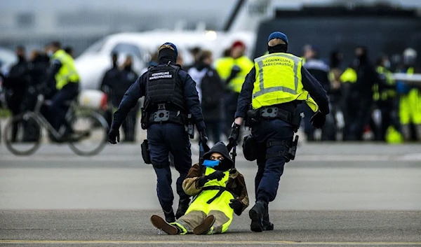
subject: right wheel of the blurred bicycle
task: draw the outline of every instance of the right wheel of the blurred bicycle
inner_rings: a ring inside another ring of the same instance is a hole
[[[72,139],[69,146],[77,155],[96,155],[107,143],[108,124],[95,112],[75,113],[71,121]]]

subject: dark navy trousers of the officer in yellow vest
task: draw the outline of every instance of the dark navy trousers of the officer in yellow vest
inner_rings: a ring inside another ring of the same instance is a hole
[[[294,134],[293,127],[278,119],[260,120],[253,126],[252,133],[261,149],[258,152],[258,173],[255,177],[256,200],[269,203],[276,197],[286,158],[277,155],[267,159],[266,155],[283,152],[288,148],[281,145],[267,147],[267,143],[269,141],[291,141]]]

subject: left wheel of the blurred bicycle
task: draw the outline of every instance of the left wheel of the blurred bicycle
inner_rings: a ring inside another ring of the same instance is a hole
[[[16,115],[6,123],[3,137],[14,155],[32,155],[41,144],[41,124],[31,113]]]

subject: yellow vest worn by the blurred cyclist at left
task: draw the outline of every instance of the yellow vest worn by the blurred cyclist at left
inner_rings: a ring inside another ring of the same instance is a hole
[[[55,74],[55,87],[61,90],[67,83],[79,83],[79,74],[74,66],[72,56],[68,55],[64,50],[58,50],[51,57],[51,61],[58,60],[62,66],[58,73]]]

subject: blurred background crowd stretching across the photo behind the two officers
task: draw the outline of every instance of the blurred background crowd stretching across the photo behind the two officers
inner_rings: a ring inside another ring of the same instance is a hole
[[[32,50],[26,57],[25,48],[19,46],[16,48],[18,62],[7,76],[1,75],[4,77],[8,108],[13,115],[31,110],[40,92],[51,99],[57,91],[55,82],[48,80],[52,66],[47,50],[48,45],[45,51]],[[63,50],[72,56],[71,47]],[[239,92],[254,62],[245,55],[246,45],[241,41],[234,42],[223,57],[215,60],[210,50],[193,48],[190,51],[194,63],[183,64],[179,55],[177,64],[196,82],[206,130],[210,140],[217,143],[222,136],[229,135]],[[126,57],[119,65],[118,56],[112,54],[112,68],[105,73],[100,87],[108,95],[109,105],[112,106],[105,112],[109,124],[112,122],[112,111],[119,106],[128,87],[140,76],[133,71],[131,57]],[[392,78],[392,72],[420,73],[415,65],[417,52],[406,49],[400,64],[391,64],[387,55],[370,61],[368,50],[363,46],[356,48],[355,56],[354,62],[347,66],[342,63],[343,55],[339,51],[331,52],[329,59],[321,59],[318,48],[313,45],[303,48],[303,66],[328,92],[331,109],[325,127],[317,131],[309,124],[312,110],[300,104],[300,111],[305,113],[302,125],[307,141],[421,141],[420,86]],[[152,55],[149,66],[156,65],[156,59],[157,54]],[[142,72],[145,71],[147,68]],[[123,123],[123,141],[135,141],[139,108],[133,108]]]

